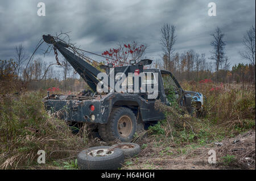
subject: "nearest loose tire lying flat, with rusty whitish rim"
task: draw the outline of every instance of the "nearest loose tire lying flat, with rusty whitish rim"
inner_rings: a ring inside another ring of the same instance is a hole
[[[123,150],[110,146],[88,148],[77,157],[77,166],[82,170],[115,170],[122,167],[123,162]]]

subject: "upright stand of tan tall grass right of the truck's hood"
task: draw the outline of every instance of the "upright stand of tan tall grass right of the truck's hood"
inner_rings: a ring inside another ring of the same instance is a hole
[[[216,124],[241,124],[255,119],[255,85],[183,82],[186,90],[200,91],[206,97],[207,119]]]

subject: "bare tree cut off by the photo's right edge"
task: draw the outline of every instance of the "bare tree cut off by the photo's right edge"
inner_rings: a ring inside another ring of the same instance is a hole
[[[243,35],[243,45],[245,50],[241,51],[240,54],[243,58],[248,60],[253,65],[254,71],[254,82],[255,82],[255,27],[251,26],[245,35]]]

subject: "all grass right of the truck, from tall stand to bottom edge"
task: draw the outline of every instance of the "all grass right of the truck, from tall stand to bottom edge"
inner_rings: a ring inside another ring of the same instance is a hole
[[[204,118],[180,115],[175,107],[157,102],[166,120],[137,141],[143,149],[123,169],[255,169],[255,86],[224,85],[210,91],[212,87],[220,85],[183,82],[185,90],[207,96]],[[208,163],[211,149],[217,164]]]

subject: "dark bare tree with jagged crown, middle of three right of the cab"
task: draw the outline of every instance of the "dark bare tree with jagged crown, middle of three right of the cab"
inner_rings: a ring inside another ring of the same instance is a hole
[[[213,40],[210,42],[210,45],[213,46],[213,51],[210,52],[212,53],[212,56],[210,57],[210,59],[215,60],[215,66],[217,71],[216,81],[218,81],[218,70],[220,68],[220,65],[224,61],[224,57],[225,57],[224,48],[226,43],[223,40],[224,33],[222,33],[219,27],[216,28],[215,32],[211,36],[213,36]]]

